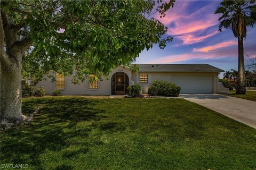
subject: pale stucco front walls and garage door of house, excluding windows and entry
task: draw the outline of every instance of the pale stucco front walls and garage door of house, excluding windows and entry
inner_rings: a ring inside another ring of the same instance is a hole
[[[98,81],[98,89],[89,89],[89,80],[86,79],[80,84],[71,83],[71,77],[65,77],[65,89],[61,89],[62,95],[111,95],[111,77],[117,73],[123,72],[129,78],[129,86],[139,84],[142,87],[142,93],[147,93],[150,84],[154,80],[169,81],[181,87],[181,94],[211,94],[217,93],[218,72],[132,72],[128,67],[118,66],[113,69],[108,77],[103,77]],[[148,74],[148,82],[140,83],[139,74]],[[55,75],[54,73],[52,75]],[[55,82],[44,77],[43,81],[37,84],[37,87],[43,86],[46,94],[51,95],[55,90]],[[221,89],[223,90],[223,88]]]

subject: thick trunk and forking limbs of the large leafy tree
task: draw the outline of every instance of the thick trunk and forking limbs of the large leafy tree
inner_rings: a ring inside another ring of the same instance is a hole
[[[31,45],[30,38],[17,40],[13,21],[0,12],[0,123],[20,123],[26,120],[21,113],[21,60]],[[5,47],[4,47],[5,45]]]

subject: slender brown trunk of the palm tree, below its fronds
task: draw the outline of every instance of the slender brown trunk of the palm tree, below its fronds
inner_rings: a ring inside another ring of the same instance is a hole
[[[238,37],[238,80],[236,85],[236,94],[245,94],[244,45],[242,37]]]

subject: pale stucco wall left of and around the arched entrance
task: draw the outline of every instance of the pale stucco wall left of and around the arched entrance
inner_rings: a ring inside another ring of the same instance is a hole
[[[86,78],[84,82],[79,84],[71,83],[72,77],[65,77],[65,89],[60,89],[62,95],[111,95],[111,77],[116,72],[124,72],[129,77],[129,84],[132,82],[132,73],[129,68],[118,66],[112,70],[108,77],[103,77],[98,82],[98,89],[89,89],[89,80]],[[55,73],[52,73],[54,76]],[[39,81],[36,87],[43,86],[46,94],[51,95],[55,90],[55,82],[51,82],[51,79],[44,76],[43,81]]]

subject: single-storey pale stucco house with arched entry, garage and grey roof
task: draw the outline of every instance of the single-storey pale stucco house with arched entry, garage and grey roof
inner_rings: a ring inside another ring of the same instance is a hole
[[[181,87],[181,94],[212,94],[226,90],[218,82],[218,74],[223,70],[209,64],[137,64],[138,73],[129,67],[118,66],[106,78],[99,80],[90,75],[80,84],[71,83],[71,77],[53,73],[51,79],[39,81],[46,94],[61,90],[63,95],[125,95],[127,87],[139,84],[142,93],[147,93],[154,80],[170,81]]]

